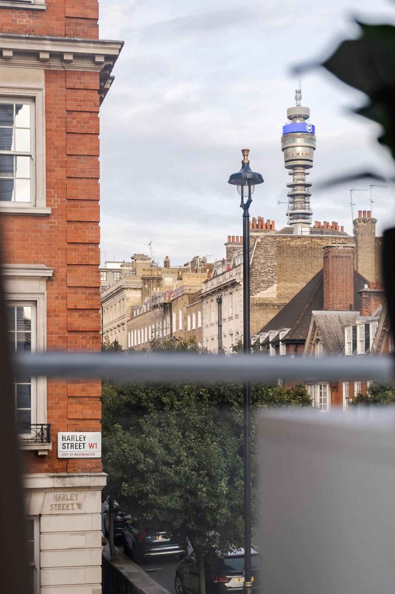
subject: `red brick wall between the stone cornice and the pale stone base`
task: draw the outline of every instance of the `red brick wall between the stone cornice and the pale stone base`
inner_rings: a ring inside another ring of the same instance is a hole
[[[49,15],[55,4],[64,2],[49,1]],[[87,77],[83,72],[79,83],[78,72],[73,77],[68,74],[45,71],[46,203],[52,212],[50,216],[3,217],[5,261],[45,264],[54,269],[47,281],[47,350],[100,351],[98,74]],[[82,112],[87,93],[88,112]],[[78,117],[88,113],[90,119],[94,113],[90,132],[86,127],[82,133],[68,132],[77,104]],[[81,158],[90,159],[94,175],[92,169],[85,172],[81,168]],[[71,169],[71,160],[78,170]],[[53,450],[40,457],[26,452],[28,472],[101,470],[101,460],[58,459],[56,445],[58,431],[101,430],[100,394],[100,381],[47,381],[47,422],[51,424]]]

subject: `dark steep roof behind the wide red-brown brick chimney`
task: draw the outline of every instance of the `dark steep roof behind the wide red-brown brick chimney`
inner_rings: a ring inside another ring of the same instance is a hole
[[[358,291],[363,289],[367,280],[354,270],[354,303],[355,309],[359,314],[360,299]],[[263,326],[262,332],[279,330],[280,328],[291,328],[284,337],[284,342],[288,340],[305,340],[310,327],[311,313],[313,311],[323,310],[324,308],[324,271],[323,268],[305,285],[282,309],[275,315],[270,322]],[[346,312],[349,313],[349,312]],[[354,321],[356,315],[354,314]]]

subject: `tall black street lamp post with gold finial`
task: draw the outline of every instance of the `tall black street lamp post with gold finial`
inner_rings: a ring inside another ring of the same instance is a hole
[[[241,169],[232,173],[228,183],[237,185],[243,208],[243,352],[250,352],[250,213],[251,194],[256,184],[263,183],[260,173],[250,169],[249,149],[242,149]],[[244,201],[246,199],[246,201]],[[244,383],[244,594],[251,594],[251,430],[250,382]]]

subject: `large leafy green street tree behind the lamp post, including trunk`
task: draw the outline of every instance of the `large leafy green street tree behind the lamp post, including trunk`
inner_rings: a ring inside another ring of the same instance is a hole
[[[198,349],[194,340],[151,347]],[[106,492],[138,519],[189,539],[203,593],[204,553],[225,554],[243,541],[243,386],[104,383],[102,402]],[[251,404],[258,410],[311,401],[302,387],[252,386]],[[253,480],[256,502],[254,473]]]

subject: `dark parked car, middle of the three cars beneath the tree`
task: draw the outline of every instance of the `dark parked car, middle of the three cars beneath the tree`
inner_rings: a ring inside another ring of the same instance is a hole
[[[123,550],[126,555],[132,555],[136,563],[161,555],[177,555],[182,559],[186,556],[187,543],[180,543],[163,530],[145,529],[141,522],[132,519],[123,529]]]

